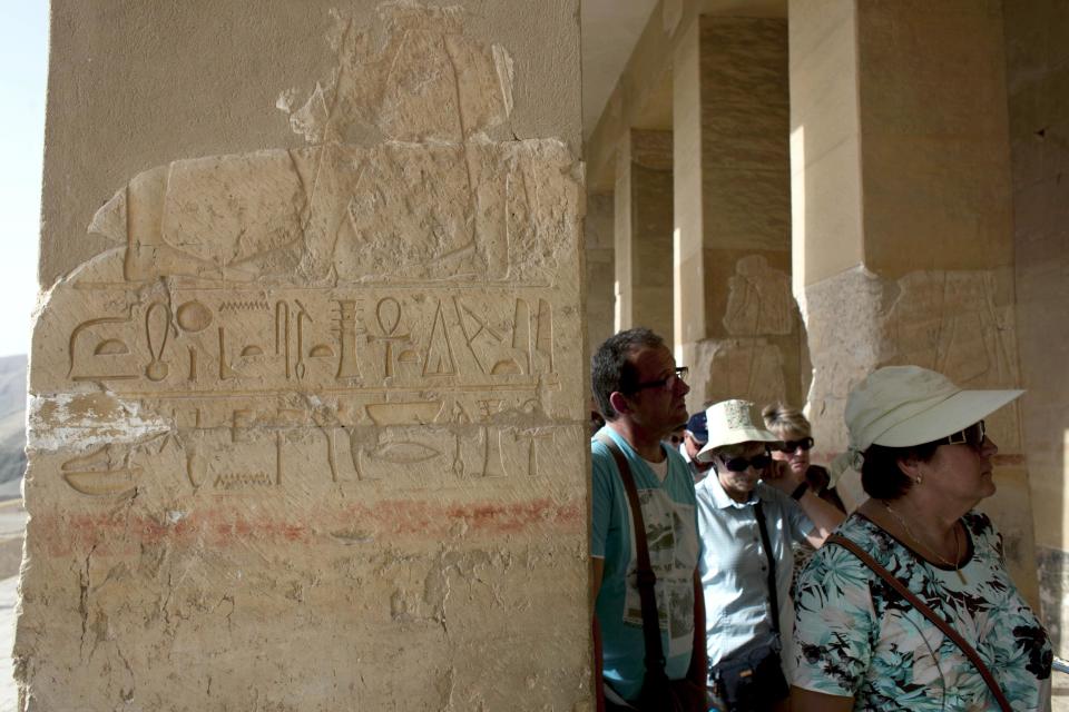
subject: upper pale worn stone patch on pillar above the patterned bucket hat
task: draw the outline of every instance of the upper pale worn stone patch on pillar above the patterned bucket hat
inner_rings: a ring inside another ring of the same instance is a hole
[[[762,255],[747,255],[735,263],[724,314],[728,334],[790,334],[794,330],[794,309],[788,274],[771,268]]]

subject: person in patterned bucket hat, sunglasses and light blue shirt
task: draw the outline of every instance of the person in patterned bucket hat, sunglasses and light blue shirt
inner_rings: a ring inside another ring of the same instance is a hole
[[[792,544],[820,546],[843,513],[816,496],[804,473],[772,458],[781,442],[754,404],[709,406],[706,429],[697,459],[712,463],[714,473],[695,490],[715,709],[787,709],[781,652],[794,616]]]

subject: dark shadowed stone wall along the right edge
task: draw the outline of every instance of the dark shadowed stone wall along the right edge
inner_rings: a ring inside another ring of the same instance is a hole
[[[1024,452],[1043,621],[1069,656],[1069,23],[1065,6],[1009,0],[1014,277]]]

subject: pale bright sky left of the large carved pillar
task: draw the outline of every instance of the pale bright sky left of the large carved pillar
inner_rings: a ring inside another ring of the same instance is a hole
[[[0,0],[0,356],[30,348],[47,69],[48,0]]]

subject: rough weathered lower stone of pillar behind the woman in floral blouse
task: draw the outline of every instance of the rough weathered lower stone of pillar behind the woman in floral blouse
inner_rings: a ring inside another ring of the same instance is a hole
[[[964,387],[1017,387],[1012,281],[1009,269],[916,271],[890,280],[857,268],[808,286],[803,316],[814,374],[808,398],[817,443],[814,459],[826,462],[846,448],[846,396],[875,368],[915,364],[948,374]],[[1012,542],[1007,546],[1011,573],[1034,602],[1020,405],[991,414],[987,425],[999,446],[999,492],[982,507]],[[843,488],[849,503],[864,498],[856,474],[846,477]]]

